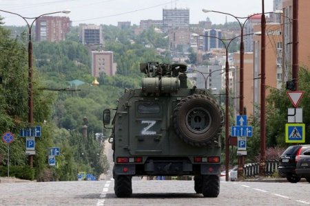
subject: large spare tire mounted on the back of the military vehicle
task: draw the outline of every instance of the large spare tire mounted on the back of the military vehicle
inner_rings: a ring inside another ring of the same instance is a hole
[[[213,98],[195,94],[176,105],[172,121],[180,139],[192,146],[205,146],[217,141],[224,125],[224,115]]]

